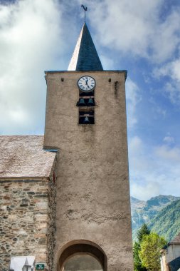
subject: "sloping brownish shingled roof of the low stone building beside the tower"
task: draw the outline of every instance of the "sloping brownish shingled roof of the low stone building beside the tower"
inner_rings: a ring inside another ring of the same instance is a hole
[[[0,179],[48,177],[55,159],[43,136],[0,136],[0,155]]]

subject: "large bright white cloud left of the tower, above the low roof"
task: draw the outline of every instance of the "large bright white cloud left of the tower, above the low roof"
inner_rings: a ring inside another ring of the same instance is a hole
[[[43,71],[53,66],[64,46],[60,9],[53,0],[0,5],[0,24],[1,133],[43,133]]]

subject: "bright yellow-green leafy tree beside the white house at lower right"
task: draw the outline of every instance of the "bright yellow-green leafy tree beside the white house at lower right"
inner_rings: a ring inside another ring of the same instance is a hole
[[[148,271],[159,271],[160,268],[160,250],[166,245],[166,240],[163,237],[152,232],[149,235],[143,235],[140,244],[139,257],[142,260],[142,265]]]

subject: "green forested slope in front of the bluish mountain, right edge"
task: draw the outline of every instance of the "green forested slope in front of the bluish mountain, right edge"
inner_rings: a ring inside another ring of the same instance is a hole
[[[148,226],[167,241],[173,239],[180,231],[180,200],[174,201],[159,211]]]

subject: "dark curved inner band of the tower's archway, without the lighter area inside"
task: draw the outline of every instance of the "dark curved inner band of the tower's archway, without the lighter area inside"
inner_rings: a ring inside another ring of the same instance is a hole
[[[62,271],[65,262],[75,255],[90,255],[94,257],[103,271],[107,271],[107,257],[100,246],[88,240],[74,240],[65,244],[60,250],[57,271]]]

